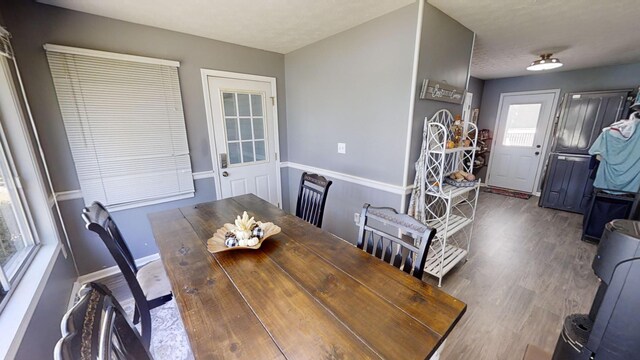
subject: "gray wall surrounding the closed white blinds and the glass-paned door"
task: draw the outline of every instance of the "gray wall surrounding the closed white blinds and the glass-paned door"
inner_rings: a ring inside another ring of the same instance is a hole
[[[79,189],[73,159],[42,45],[53,43],[178,60],[187,137],[193,171],[212,169],[200,69],[216,69],[273,76],[279,95],[280,153],[287,158],[284,56],[197,36],[127,23],[42,5],[32,1],[0,3],[25,82],[56,191]],[[213,179],[196,181],[196,196],[188,200],[114,213],[135,257],[157,252],[146,213],[167,207],[215,199]],[[72,245],[81,274],[113,266],[104,245],[82,228],[81,201],[61,205],[71,229]]]

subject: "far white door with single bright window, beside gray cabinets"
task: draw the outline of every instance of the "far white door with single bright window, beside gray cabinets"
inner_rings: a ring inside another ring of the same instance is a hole
[[[502,94],[487,183],[534,192],[557,91]]]

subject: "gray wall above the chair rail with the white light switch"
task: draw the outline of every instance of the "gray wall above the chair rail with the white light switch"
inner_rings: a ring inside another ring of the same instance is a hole
[[[401,183],[417,8],[285,55],[289,161]]]

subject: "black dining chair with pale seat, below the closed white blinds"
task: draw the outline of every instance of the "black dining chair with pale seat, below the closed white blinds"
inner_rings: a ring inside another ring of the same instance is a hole
[[[94,201],[82,210],[82,219],[88,230],[100,236],[116,261],[136,303],[133,323],[141,320],[142,339],[145,346],[151,341],[150,310],[172,299],[171,284],[160,260],[151,261],[138,268],[120,230],[101,203]]]

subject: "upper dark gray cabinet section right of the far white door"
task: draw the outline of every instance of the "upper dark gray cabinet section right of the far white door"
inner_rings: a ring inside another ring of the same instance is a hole
[[[626,115],[628,95],[627,90],[566,94],[551,151],[587,154],[602,128]]]

